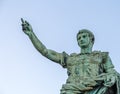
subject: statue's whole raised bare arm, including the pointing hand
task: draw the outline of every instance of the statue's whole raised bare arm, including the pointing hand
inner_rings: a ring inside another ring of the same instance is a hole
[[[61,63],[62,62],[62,58],[63,58],[63,54],[62,53],[57,53],[53,50],[47,49],[42,42],[37,38],[37,36],[34,34],[33,29],[31,27],[31,25],[27,22],[24,21],[21,18],[22,21],[22,30],[24,31],[24,33],[26,35],[29,36],[30,40],[32,41],[32,44],[34,45],[34,47],[45,57],[47,57],[48,59],[57,62],[57,63]]]

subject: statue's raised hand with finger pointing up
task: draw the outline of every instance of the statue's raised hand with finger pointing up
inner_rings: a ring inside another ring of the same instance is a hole
[[[33,32],[32,26],[27,21],[21,18],[21,22],[22,22],[22,30],[24,31],[25,34],[29,35],[31,32]]]

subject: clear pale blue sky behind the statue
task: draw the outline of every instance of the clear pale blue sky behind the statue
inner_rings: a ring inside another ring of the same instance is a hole
[[[80,52],[78,30],[91,30],[93,50],[108,51],[120,72],[120,0],[0,0],[0,94],[59,94],[67,79],[36,51],[20,18],[47,48],[68,54]]]

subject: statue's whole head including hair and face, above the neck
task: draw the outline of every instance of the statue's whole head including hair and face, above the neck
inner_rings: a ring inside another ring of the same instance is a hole
[[[92,47],[95,41],[93,33],[87,29],[79,30],[77,42],[81,48]]]

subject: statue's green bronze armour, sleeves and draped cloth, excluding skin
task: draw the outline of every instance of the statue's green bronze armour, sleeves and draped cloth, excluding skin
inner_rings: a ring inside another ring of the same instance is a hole
[[[120,94],[120,75],[107,52],[63,54],[61,65],[67,68],[68,79],[60,94]],[[116,79],[111,87],[104,86],[108,77]]]

